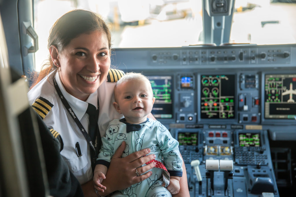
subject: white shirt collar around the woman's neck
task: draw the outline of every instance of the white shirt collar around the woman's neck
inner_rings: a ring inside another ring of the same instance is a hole
[[[80,121],[83,115],[86,113],[86,109],[88,107],[88,104],[92,104],[97,108],[97,101],[98,101],[98,91],[95,91],[94,93],[90,94],[86,101],[79,100],[78,98],[70,95],[66,89],[64,88],[62,81],[59,77],[59,72],[55,75],[55,79],[57,81],[57,84],[59,86],[59,89],[61,89],[61,92],[67,102],[69,103],[70,107],[74,111],[75,115],[77,116],[78,120]]]

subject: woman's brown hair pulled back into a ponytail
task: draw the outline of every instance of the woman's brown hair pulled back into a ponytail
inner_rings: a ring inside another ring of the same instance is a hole
[[[77,38],[84,33],[90,34],[95,30],[106,33],[111,54],[111,33],[109,27],[98,14],[82,9],[72,10],[57,19],[49,31],[47,48],[49,49],[51,45],[54,45],[57,47],[58,52],[61,52],[73,38]],[[40,73],[33,73],[33,84],[31,88],[51,71],[57,72],[57,66],[54,65],[49,55],[48,62],[41,67]]]

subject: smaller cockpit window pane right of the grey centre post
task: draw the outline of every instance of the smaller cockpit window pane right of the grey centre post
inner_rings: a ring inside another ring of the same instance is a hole
[[[296,1],[236,0],[231,43],[296,43]]]

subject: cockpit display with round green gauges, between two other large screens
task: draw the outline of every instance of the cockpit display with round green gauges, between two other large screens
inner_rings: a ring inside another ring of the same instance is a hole
[[[201,76],[201,118],[235,118],[234,75]]]

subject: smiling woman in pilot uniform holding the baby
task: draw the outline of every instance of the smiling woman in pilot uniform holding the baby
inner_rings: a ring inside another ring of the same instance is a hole
[[[104,21],[86,10],[68,12],[53,25],[48,48],[49,65],[36,78],[28,98],[46,125],[62,136],[64,149],[61,155],[85,196],[104,196],[148,178],[151,173],[147,170],[154,167],[154,162],[137,168],[141,173],[147,172],[144,175],[136,176],[135,169],[154,159],[155,155],[138,159],[150,152],[143,149],[121,158],[125,149],[123,144],[114,154],[103,181],[107,189],[104,193],[94,191],[92,165],[100,147],[100,136],[104,135],[111,120],[122,118],[112,106],[115,83],[106,81],[110,69],[111,35]],[[89,104],[97,106],[100,135],[88,135]],[[179,195],[189,196],[186,176],[180,184],[185,193]]]

